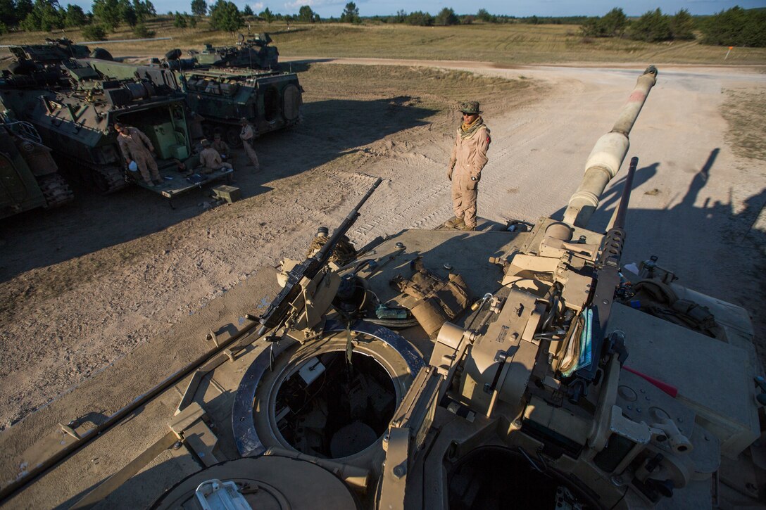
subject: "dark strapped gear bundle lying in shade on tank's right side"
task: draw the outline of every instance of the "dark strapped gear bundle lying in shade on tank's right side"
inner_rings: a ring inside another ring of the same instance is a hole
[[[682,325],[718,337],[722,332],[715,316],[707,306],[689,299],[679,299],[676,292],[658,280],[640,280],[633,285],[631,301],[640,302],[640,309],[673,324]]]

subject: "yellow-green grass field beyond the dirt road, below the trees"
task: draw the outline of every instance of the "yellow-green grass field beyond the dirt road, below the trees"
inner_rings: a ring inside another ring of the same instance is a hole
[[[114,54],[162,55],[173,47],[201,47],[202,44],[233,44],[234,34],[209,31],[207,22],[197,28],[172,27],[168,19],[148,25],[156,37],[172,41],[110,44]],[[724,60],[727,48],[705,46],[694,41],[650,44],[623,39],[586,40],[577,25],[462,25],[453,27],[411,27],[408,25],[346,25],[293,23],[290,31],[281,23],[253,23],[250,31],[268,32],[283,57],[383,57],[425,60],[477,60],[500,65],[639,63],[639,64],[766,64],[766,48],[734,48]],[[246,30],[246,29],[245,29]],[[19,32],[5,34],[0,44],[41,42],[57,34]],[[67,32],[74,41],[83,41],[80,31]],[[112,40],[128,39],[127,26],[109,34]]]

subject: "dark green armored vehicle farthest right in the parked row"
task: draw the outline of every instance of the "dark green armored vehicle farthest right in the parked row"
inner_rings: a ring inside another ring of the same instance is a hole
[[[258,135],[295,126],[300,122],[303,87],[294,73],[278,71],[214,69],[191,67],[169,70],[168,64],[178,60],[165,60],[165,72],[173,74],[168,80],[171,87],[184,94],[189,109],[201,117],[202,135],[211,139],[219,132],[234,147],[242,145],[239,138],[240,119],[248,119]],[[151,74],[155,66],[136,66],[119,62],[92,60],[91,64],[104,74],[115,77],[134,77]]]

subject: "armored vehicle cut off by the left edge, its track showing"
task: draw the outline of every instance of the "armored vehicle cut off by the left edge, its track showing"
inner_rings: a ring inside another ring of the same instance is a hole
[[[74,200],[51,149],[29,123],[0,121],[0,218]]]

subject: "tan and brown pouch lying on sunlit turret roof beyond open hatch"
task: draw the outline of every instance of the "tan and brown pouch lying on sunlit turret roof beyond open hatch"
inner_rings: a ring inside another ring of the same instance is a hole
[[[402,293],[414,297],[412,315],[428,335],[437,332],[444,322],[454,319],[470,302],[470,289],[463,276],[450,273],[447,280],[425,269],[421,257],[412,263],[416,272],[410,280],[397,276],[392,280]]]

